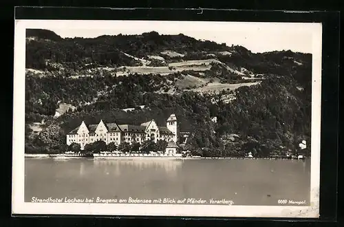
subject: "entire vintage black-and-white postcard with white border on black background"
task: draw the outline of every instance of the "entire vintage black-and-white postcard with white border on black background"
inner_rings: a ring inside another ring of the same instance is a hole
[[[13,215],[319,217],[321,33],[15,21]]]

